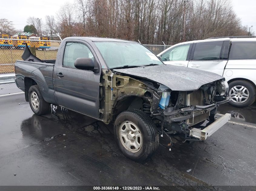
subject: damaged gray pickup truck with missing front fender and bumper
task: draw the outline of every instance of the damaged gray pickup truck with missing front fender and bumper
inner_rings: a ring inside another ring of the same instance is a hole
[[[165,65],[133,41],[68,37],[56,60],[40,60],[28,47],[22,59],[15,63],[15,82],[35,114],[56,104],[113,122],[120,150],[133,160],[153,154],[159,136],[170,140],[168,147],[173,135],[205,140],[230,119],[217,113],[229,101],[222,76]]]

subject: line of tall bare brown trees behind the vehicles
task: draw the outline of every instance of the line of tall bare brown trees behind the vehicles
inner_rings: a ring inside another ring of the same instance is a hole
[[[97,36],[178,43],[248,35],[230,0],[76,0],[53,15],[29,17],[26,31],[62,38]],[[33,31],[32,31],[33,30]],[[250,33],[251,35],[251,33]]]

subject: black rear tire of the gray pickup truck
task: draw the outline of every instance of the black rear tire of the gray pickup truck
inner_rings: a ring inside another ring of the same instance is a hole
[[[32,93],[35,92],[37,94],[36,102],[38,103],[38,107],[35,108],[35,104],[32,102]],[[36,115],[43,115],[49,112],[50,104],[46,102],[40,92],[38,85],[32,85],[28,90],[28,102],[32,109],[32,111]],[[34,105],[34,106],[33,106]]]

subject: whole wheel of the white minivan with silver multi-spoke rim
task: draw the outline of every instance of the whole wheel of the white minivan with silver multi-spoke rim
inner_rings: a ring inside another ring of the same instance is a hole
[[[247,107],[254,103],[256,90],[253,84],[245,80],[232,81],[229,85],[230,105],[235,107]]]

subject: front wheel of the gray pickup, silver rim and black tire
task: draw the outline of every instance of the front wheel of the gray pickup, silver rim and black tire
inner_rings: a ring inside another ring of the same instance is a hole
[[[135,161],[143,161],[158,148],[159,135],[155,123],[141,110],[126,110],[115,119],[115,138],[122,153]]]

